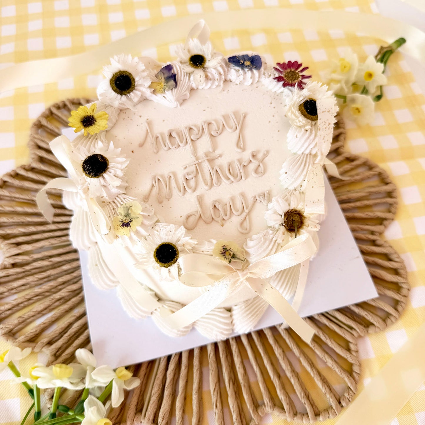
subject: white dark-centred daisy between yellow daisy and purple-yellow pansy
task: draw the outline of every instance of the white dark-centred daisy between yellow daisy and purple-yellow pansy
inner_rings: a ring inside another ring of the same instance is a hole
[[[150,78],[142,62],[131,55],[111,58],[103,67],[104,79],[97,88],[99,100],[115,108],[133,108],[149,93]]]

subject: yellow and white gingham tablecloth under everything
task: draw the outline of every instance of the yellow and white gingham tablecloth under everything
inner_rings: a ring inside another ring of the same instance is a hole
[[[0,4],[2,67],[80,53],[188,14],[273,6],[377,12],[371,0],[1,0]],[[265,54],[269,63],[302,61],[317,79],[329,68],[330,60],[336,59],[347,46],[364,60],[368,54],[374,55],[381,43],[371,37],[342,31],[285,31],[282,28],[264,28],[263,31],[229,29],[213,33],[212,42],[224,54],[253,50]],[[152,44],[155,44],[154,40]],[[127,53],[167,60],[170,55],[174,57],[173,52],[174,46],[171,45],[143,52],[135,46]],[[397,184],[397,219],[388,227],[385,236],[404,259],[412,289],[406,311],[397,323],[358,341],[362,366],[359,391],[425,320],[425,98],[400,53],[391,57],[386,74],[388,85],[384,88],[383,100],[376,105],[374,122],[363,127],[347,123],[347,148],[377,162]],[[1,94],[0,175],[28,162],[30,125],[48,105],[67,97],[95,97],[101,78],[99,71],[94,75]],[[0,353],[6,348],[8,345],[0,342]],[[34,364],[37,357],[40,360],[42,354],[31,354],[31,358],[22,362],[23,367]],[[11,377],[8,370],[0,374],[0,424],[19,424],[30,405],[29,397],[20,385],[9,385]],[[209,409],[211,406],[204,406],[205,424],[210,416]],[[336,420],[323,423],[334,424]],[[263,422],[288,423],[272,416],[266,416]],[[425,385],[391,423],[416,424],[425,424]]]

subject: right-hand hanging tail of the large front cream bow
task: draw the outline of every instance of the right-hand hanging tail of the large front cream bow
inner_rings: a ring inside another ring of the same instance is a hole
[[[307,344],[310,344],[314,335],[314,329],[306,323],[299,314],[292,308],[291,304],[286,301],[285,297],[266,280],[248,279],[251,289],[261,298],[267,301],[288,323]]]

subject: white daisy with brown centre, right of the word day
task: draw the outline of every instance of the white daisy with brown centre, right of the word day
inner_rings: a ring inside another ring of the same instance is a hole
[[[278,230],[275,238],[283,245],[292,241],[297,235],[317,232],[320,228],[317,214],[304,212],[303,196],[297,190],[275,196],[269,203],[264,218],[268,226]]]

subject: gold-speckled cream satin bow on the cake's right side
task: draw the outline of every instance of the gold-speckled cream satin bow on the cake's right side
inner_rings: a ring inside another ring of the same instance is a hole
[[[332,143],[334,132],[334,99],[319,99],[317,106],[317,159],[307,173],[306,197],[304,211],[306,214],[325,213],[325,180],[322,167],[334,177],[346,180],[340,176],[336,165],[326,158]]]

